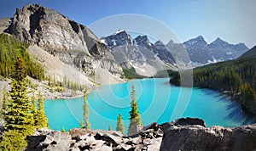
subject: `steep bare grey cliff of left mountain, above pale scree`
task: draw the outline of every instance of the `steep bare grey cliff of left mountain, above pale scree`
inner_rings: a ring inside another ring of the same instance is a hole
[[[84,71],[86,76],[95,76],[96,67],[118,77],[123,74],[108,48],[87,27],[53,9],[38,4],[17,8],[6,32],[44,48],[62,62]]]

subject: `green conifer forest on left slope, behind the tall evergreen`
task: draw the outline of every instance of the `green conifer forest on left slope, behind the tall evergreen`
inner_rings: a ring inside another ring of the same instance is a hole
[[[0,76],[11,77],[15,71],[17,57],[24,60],[27,74],[35,79],[43,80],[44,69],[26,52],[28,44],[20,42],[7,34],[0,34]]]

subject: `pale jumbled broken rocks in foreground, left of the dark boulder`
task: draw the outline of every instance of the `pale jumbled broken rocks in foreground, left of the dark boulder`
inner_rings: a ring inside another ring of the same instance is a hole
[[[162,136],[160,129],[147,129],[130,137],[119,131],[39,130],[27,137],[26,150],[159,150]]]

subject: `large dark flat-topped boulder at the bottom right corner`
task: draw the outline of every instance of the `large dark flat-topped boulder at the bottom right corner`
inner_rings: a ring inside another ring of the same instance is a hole
[[[182,124],[180,123],[182,121]],[[186,123],[187,121],[187,123]],[[183,119],[161,125],[160,150],[255,150],[256,125],[225,128],[201,126],[199,119]],[[191,123],[193,125],[189,125]]]

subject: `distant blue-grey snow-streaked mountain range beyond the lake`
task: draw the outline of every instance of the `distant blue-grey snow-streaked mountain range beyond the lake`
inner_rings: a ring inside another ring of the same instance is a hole
[[[101,42],[112,50],[115,59],[126,68],[136,66],[132,64],[154,66],[155,60],[160,64],[179,67],[185,64],[186,67],[195,67],[236,59],[248,50],[244,43],[234,45],[220,38],[208,44],[203,36],[197,36],[183,43],[175,43],[172,40],[167,44],[160,40],[151,43],[148,36],[137,36],[132,39],[125,30],[102,37]]]

